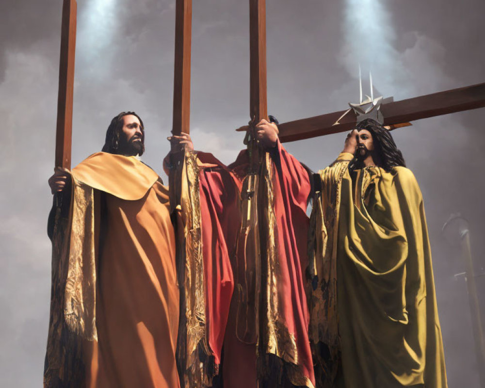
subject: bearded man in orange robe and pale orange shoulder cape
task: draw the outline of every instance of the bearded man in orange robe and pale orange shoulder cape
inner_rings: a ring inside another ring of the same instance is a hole
[[[140,117],[122,112],[103,152],[49,179],[45,387],[179,387],[175,232],[167,187],[135,157],[144,138]]]

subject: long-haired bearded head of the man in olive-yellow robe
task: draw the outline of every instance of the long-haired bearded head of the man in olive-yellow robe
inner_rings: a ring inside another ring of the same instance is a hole
[[[349,168],[361,168],[363,161],[370,156],[375,165],[389,172],[393,167],[406,166],[403,154],[397,148],[388,129],[377,121],[368,118],[360,121],[355,128],[358,133],[355,158]]]

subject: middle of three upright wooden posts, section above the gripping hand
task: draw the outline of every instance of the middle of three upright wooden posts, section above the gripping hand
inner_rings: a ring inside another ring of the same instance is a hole
[[[190,131],[192,0],[177,0],[175,16],[174,116],[172,133]]]

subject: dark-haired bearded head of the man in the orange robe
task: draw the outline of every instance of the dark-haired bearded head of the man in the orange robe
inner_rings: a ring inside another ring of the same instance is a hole
[[[145,126],[134,112],[121,112],[111,120],[106,130],[103,152],[136,156],[145,152]]]

